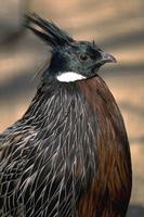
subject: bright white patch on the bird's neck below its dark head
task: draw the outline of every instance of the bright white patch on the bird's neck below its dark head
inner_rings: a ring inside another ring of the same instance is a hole
[[[80,74],[77,74],[75,72],[65,72],[65,73],[57,75],[56,78],[58,81],[62,81],[62,82],[71,82],[71,81],[76,81],[76,80],[86,79],[87,77],[84,77]]]

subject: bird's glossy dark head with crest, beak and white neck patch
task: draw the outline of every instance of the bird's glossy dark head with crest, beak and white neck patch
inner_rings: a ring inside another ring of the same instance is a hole
[[[52,22],[37,14],[28,14],[28,28],[52,47],[49,75],[62,82],[88,79],[96,76],[105,63],[116,62],[95,42],[76,41]]]

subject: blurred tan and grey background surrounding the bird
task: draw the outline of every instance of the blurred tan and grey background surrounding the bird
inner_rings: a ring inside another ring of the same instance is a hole
[[[26,111],[48,47],[23,26],[35,11],[117,58],[101,69],[126,122],[133,164],[128,217],[144,217],[144,1],[0,0],[0,132]]]

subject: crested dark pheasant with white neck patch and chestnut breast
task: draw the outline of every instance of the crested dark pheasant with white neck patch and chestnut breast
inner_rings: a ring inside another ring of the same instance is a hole
[[[0,136],[1,217],[125,217],[132,189],[120,110],[99,74],[116,59],[35,13],[48,48],[36,94]]]

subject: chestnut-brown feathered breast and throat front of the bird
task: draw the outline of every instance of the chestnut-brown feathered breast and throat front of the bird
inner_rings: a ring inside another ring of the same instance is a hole
[[[122,217],[131,194],[131,158],[123,120],[101,77],[77,82],[97,116],[97,174],[78,205],[78,217]]]

